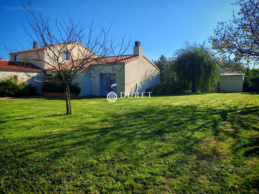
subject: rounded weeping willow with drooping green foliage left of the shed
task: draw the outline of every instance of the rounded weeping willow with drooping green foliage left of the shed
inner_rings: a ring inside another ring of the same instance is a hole
[[[178,80],[191,92],[216,92],[221,67],[204,44],[189,44],[177,50],[174,70]]]

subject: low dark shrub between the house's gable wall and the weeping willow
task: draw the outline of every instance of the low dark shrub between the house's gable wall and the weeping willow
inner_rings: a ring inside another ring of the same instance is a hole
[[[184,92],[185,88],[179,82],[166,83],[153,86],[153,94],[176,94]],[[152,92],[152,86],[147,88],[147,92]]]

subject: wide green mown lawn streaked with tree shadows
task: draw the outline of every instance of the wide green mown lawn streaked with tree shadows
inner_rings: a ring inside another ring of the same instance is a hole
[[[259,192],[258,94],[120,100],[0,100],[0,193]]]

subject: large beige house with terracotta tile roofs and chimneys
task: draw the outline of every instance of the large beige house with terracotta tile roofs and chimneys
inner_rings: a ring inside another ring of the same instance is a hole
[[[69,50],[69,53],[62,50],[64,46],[66,50]],[[80,63],[82,53],[93,59],[87,63],[89,68],[85,67],[81,75],[74,80],[74,83],[81,87],[81,93],[78,96],[107,95],[109,92],[116,92],[120,96],[124,93],[126,95],[128,93],[134,94],[135,89],[136,92],[141,93],[145,92],[148,87],[159,85],[160,83],[160,69],[143,55],[140,42],[135,42],[133,54],[131,55],[109,57],[100,57],[76,41],[53,46],[46,45],[44,48],[38,48],[37,43],[33,42],[33,49],[10,53],[9,63],[17,64],[17,61],[19,61],[22,64],[18,65],[18,67],[30,66],[27,70],[28,72],[33,73],[36,67],[41,70],[39,71],[40,73],[52,76],[57,72],[58,68],[57,66],[54,67],[55,63],[49,57],[52,53],[53,55],[54,53],[58,54],[63,60],[62,67],[64,69],[71,68],[71,65],[76,62]],[[73,59],[73,63],[71,59]],[[15,70],[18,70],[18,67]],[[0,66],[0,70],[3,70],[6,74],[11,74],[9,69],[8,67],[1,69]],[[36,76],[39,75],[36,74]],[[23,72],[20,72],[20,77],[24,78]]]

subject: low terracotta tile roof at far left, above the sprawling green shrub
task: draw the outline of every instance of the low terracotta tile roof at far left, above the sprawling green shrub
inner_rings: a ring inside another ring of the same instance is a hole
[[[43,71],[43,69],[28,62],[16,62],[16,61],[6,61],[6,60],[0,60],[0,70],[1,69]]]

